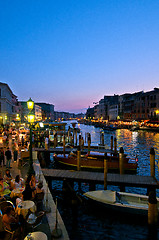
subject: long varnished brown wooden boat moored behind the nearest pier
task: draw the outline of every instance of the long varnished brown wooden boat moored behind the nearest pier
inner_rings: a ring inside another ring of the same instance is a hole
[[[81,170],[104,171],[104,153],[90,152],[81,155]],[[107,152],[108,171],[119,171],[119,156]],[[54,154],[54,160],[61,166],[69,169],[77,169],[77,153],[71,151],[70,154]],[[138,167],[137,159],[124,158],[125,172],[136,173]]]

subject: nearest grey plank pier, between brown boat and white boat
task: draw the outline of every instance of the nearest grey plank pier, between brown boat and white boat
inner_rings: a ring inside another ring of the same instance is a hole
[[[52,180],[68,180],[79,183],[104,184],[104,173],[72,171],[60,169],[42,169],[45,177]],[[107,184],[120,187],[141,187],[147,189],[158,189],[159,182],[151,176],[138,176],[128,174],[107,174]]]

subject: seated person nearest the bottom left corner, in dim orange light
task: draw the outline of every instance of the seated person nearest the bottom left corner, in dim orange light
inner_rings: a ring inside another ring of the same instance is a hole
[[[19,219],[11,206],[5,208],[5,213],[2,218],[3,224],[9,231],[15,231],[19,227]]]

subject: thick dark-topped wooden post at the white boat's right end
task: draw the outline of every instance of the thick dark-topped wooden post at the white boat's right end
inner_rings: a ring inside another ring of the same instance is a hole
[[[156,192],[151,191],[148,199],[148,224],[149,226],[157,226],[158,222],[158,209]]]

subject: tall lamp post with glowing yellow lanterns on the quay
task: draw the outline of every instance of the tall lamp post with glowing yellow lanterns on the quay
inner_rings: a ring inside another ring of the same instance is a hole
[[[30,157],[29,157],[29,170],[28,170],[28,175],[35,174],[34,168],[33,168],[33,157],[32,157],[32,123],[34,123],[34,118],[35,115],[33,114],[32,110],[34,107],[34,102],[30,98],[27,101],[27,107],[29,109],[29,114],[28,114],[28,122],[30,123],[30,146],[29,146],[29,151],[30,151]]]

